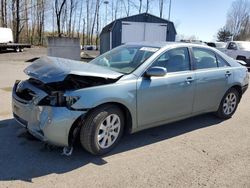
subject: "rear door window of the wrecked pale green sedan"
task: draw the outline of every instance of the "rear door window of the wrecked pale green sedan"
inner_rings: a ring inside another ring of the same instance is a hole
[[[207,49],[193,48],[196,69],[207,69],[217,67],[215,54]]]

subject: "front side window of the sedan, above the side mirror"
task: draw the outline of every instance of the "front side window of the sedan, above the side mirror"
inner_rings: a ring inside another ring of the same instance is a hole
[[[190,70],[188,48],[175,48],[162,54],[151,67],[164,67],[167,72],[180,72]]]

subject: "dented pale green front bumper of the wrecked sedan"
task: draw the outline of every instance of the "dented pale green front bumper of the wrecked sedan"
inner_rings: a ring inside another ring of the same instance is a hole
[[[69,131],[75,120],[86,111],[73,111],[66,107],[38,106],[34,100],[25,101],[12,92],[12,110],[15,120],[36,138],[57,146],[68,146]],[[39,90],[34,89],[34,90]],[[39,91],[34,91],[39,93]]]

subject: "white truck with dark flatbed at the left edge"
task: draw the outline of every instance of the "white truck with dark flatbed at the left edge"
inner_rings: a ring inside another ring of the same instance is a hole
[[[24,48],[30,48],[30,44],[20,44],[13,42],[13,34],[10,28],[0,27],[0,51],[13,49],[22,52]]]

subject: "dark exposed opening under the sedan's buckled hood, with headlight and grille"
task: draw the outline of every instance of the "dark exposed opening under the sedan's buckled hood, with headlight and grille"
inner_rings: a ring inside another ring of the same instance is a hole
[[[94,87],[100,85],[106,85],[116,82],[118,79],[109,79],[101,77],[90,77],[90,76],[79,76],[79,75],[68,75],[63,81],[43,83],[40,80],[29,78],[26,81],[20,82],[21,86],[17,87],[16,94],[20,98],[30,101],[36,96],[36,93],[30,88],[26,87],[25,82],[33,85],[34,87],[47,93],[47,96],[39,101],[38,105],[41,106],[66,106],[70,107],[74,104],[78,97],[67,97],[64,96],[65,91],[72,91],[83,89],[87,87]]]

